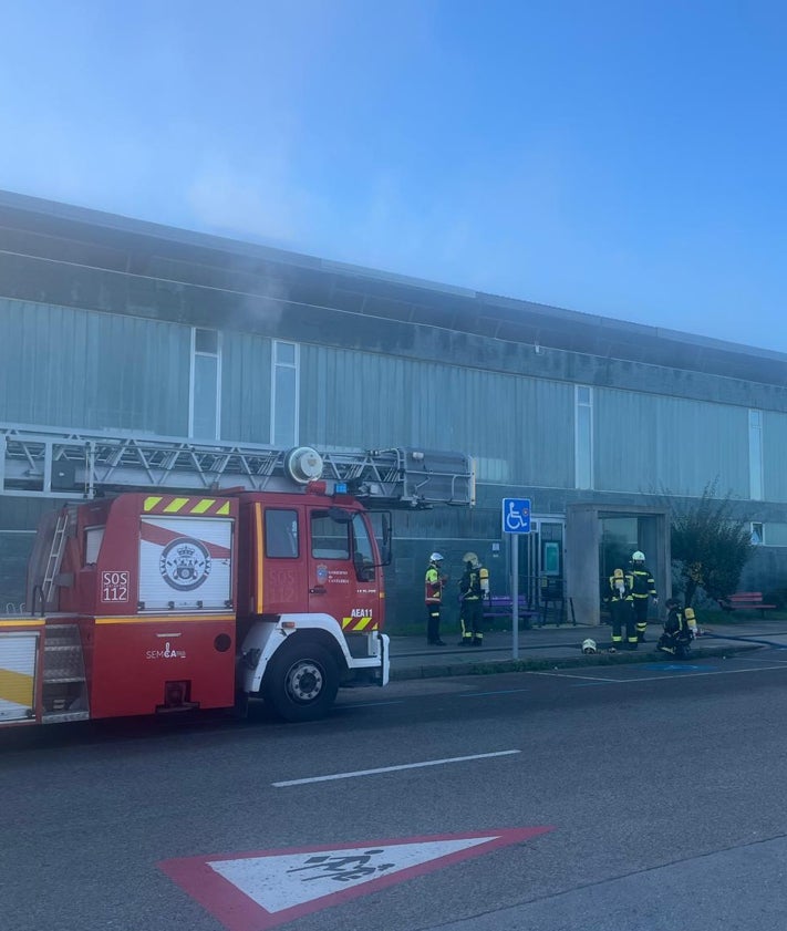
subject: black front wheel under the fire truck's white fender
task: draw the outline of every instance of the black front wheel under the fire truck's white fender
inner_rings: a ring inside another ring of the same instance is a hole
[[[284,721],[324,717],[338,691],[336,661],[320,643],[301,638],[273,653],[261,689],[266,704]]]

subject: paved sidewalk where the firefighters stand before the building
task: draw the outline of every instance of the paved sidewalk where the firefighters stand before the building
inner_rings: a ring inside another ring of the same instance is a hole
[[[735,624],[708,625],[701,629],[703,635],[692,644],[692,658],[708,655],[732,655],[747,650],[776,646],[787,650],[787,620],[748,620]],[[661,624],[648,625],[648,642],[636,651],[622,650],[614,654],[607,652],[610,645],[611,628],[608,624],[553,624],[519,631],[518,659],[514,658],[511,631],[490,631],[484,634],[483,646],[460,646],[458,634],[443,632],[446,646],[428,646],[423,637],[391,638],[391,679],[432,679],[451,675],[477,675],[489,672],[543,669],[545,664],[556,666],[599,665],[601,663],[631,663],[670,661],[656,652],[655,643],[661,634]],[[594,640],[598,653],[584,655],[582,641]],[[681,661],[679,661],[681,662]],[[691,660],[690,660],[691,662]]]

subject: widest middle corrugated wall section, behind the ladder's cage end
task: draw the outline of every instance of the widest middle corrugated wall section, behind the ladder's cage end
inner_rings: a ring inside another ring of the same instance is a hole
[[[301,348],[302,442],[427,446],[479,458],[479,478],[573,484],[573,386],[525,376]]]

